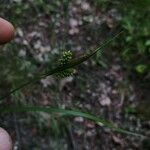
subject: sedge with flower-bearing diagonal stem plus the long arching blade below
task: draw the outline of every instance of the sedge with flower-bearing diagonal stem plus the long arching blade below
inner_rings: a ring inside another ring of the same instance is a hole
[[[26,83],[14,88],[6,95],[1,96],[0,100],[4,100],[8,96],[19,91],[20,89],[25,88],[26,86],[33,84],[33,83],[35,83],[43,78],[46,78],[48,76],[54,75],[59,78],[64,78],[64,77],[73,75],[74,69],[77,65],[87,61],[93,55],[95,55],[97,52],[102,53],[102,49],[105,46],[107,46],[108,44],[110,44],[114,39],[116,39],[121,33],[122,33],[122,31],[119,32],[118,34],[116,34],[113,38],[106,40],[101,46],[99,46],[97,49],[95,49],[91,53],[82,55],[79,58],[73,58],[71,51],[64,51],[62,54],[62,57],[59,59],[58,66],[56,68],[48,71],[45,74],[36,76],[34,79],[27,81]],[[62,108],[52,108],[52,107],[47,107],[47,106],[44,107],[44,106],[23,106],[23,105],[21,105],[21,106],[20,105],[19,106],[6,106],[6,107],[0,106],[0,113],[11,113],[11,112],[15,112],[15,113],[46,112],[49,114],[58,113],[58,114],[60,114],[61,117],[63,117],[63,116],[80,116],[80,117],[84,117],[86,119],[89,119],[89,120],[95,122],[99,126],[107,127],[107,128],[110,128],[110,129],[120,132],[120,133],[130,134],[130,135],[134,135],[134,136],[143,136],[143,135],[133,133],[133,132],[127,131],[125,129],[116,127],[113,123],[108,122],[100,117],[95,116],[95,115],[89,114],[87,112],[82,112],[80,110],[75,110],[75,109],[68,110],[68,109],[62,109]]]

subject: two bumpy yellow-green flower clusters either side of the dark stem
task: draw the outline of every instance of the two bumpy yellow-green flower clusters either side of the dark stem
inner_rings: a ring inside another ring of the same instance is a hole
[[[64,51],[62,54],[62,58],[59,59],[59,65],[64,66],[65,64],[69,63],[73,57],[72,52],[69,51]],[[74,74],[74,68],[69,68],[63,71],[60,71],[59,73],[56,74],[57,77],[59,78],[65,78],[72,76]]]

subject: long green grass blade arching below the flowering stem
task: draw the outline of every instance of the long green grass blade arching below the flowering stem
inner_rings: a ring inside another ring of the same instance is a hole
[[[46,112],[46,113],[59,113],[62,116],[80,116],[80,117],[83,117],[83,118],[86,118],[86,119],[89,119],[89,120],[95,122],[97,125],[108,127],[119,133],[144,137],[143,135],[115,127],[112,123],[105,121],[102,118],[99,118],[92,114],[89,114],[86,112],[81,112],[78,110],[67,110],[67,109],[61,109],[61,108],[41,107],[41,106],[39,106],[39,107],[38,106],[14,106],[14,107],[5,107],[5,108],[0,107],[0,113],[41,112],[41,111]]]

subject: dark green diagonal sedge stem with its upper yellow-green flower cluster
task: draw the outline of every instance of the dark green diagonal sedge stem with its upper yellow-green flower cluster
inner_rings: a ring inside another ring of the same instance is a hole
[[[60,62],[62,62],[62,64],[58,64],[58,66],[56,66],[54,69],[49,69],[46,73],[40,74],[40,75],[38,74],[38,75],[34,76],[33,79],[28,80],[28,81],[26,81],[23,84],[20,84],[19,86],[17,86],[13,90],[9,91],[6,95],[1,96],[0,100],[3,100],[4,98],[12,95],[13,93],[17,92],[18,90],[20,90],[20,89],[22,89],[22,88],[24,88],[24,87],[26,87],[26,86],[28,86],[28,85],[30,85],[32,83],[37,82],[40,79],[46,78],[47,76],[50,76],[50,75],[57,75],[57,74],[61,75],[61,73],[64,73],[66,70],[72,69],[72,68],[76,67],[77,65],[83,63],[84,61],[87,61],[92,56],[94,56],[97,52],[102,52],[101,49],[104,48],[106,45],[110,44],[121,33],[122,32],[119,32],[113,38],[110,38],[109,40],[106,40],[101,46],[99,46],[97,49],[95,49],[91,53],[83,55],[83,56],[81,56],[79,58],[73,59],[71,61],[70,61],[70,59],[72,58],[71,52],[70,51],[69,52],[65,52],[64,55],[62,56],[62,58],[60,59]],[[62,74],[62,76],[64,77],[64,74]]]

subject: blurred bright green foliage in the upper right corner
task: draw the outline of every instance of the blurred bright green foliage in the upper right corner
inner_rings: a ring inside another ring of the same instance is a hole
[[[150,60],[150,1],[149,0],[95,0],[97,7],[115,8],[121,15],[116,28],[125,32],[115,41],[129,75],[145,77],[149,74]]]

